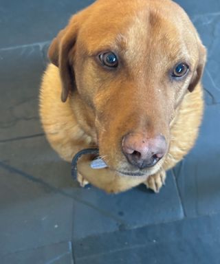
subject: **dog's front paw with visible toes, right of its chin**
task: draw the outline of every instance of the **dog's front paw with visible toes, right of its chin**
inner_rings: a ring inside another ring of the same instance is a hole
[[[165,185],[166,172],[165,170],[160,170],[158,173],[151,175],[144,182],[147,188],[153,190],[154,192],[159,192],[160,188]]]

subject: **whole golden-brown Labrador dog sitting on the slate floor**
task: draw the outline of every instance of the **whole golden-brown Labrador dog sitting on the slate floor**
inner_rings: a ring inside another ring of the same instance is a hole
[[[71,162],[99,148],[108,177],[78,174],[107,192],[146,184],[190,151],[203,115],[206,48],[177,3],[97,0],[52,41],[40,115],[52,148]]]

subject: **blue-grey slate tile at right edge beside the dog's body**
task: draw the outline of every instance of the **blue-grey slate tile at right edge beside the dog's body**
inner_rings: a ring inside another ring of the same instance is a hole
[[[220,104],[207,106],[195,148],[175,168],[187,216],[220,211]]]

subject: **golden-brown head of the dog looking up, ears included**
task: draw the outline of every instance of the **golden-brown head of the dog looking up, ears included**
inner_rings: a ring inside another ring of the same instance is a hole
[[[152,175],[170,144],[170,123],[197,86],[206,50],[184,10],[169,0],[98,0],[52,42],[62,100],[97,138],[120,175]]]

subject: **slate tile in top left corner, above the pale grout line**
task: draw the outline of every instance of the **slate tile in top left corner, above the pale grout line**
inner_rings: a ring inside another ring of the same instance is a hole
[[[0,48],[50,41],[65,27],[72,14],[93,2],[93,0],[1,1]]]

